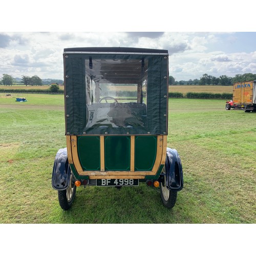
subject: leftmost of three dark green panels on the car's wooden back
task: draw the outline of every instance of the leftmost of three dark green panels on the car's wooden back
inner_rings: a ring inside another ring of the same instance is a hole
[[[83,170],[100,170],[99,136],[77,136],[77,151]]]

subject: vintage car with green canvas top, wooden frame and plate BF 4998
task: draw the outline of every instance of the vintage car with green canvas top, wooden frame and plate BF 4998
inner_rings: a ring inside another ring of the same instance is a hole
[[[174,207],[183,173],[178,152],[167,147],[168,51],[67,48],[63,60],[67,147],[52,173],[60,207],[72,206],[78,186],[142,182]]]

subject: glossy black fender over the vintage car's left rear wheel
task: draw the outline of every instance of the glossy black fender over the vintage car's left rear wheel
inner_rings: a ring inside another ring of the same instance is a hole
[[[58,150],[52,170],[52,187],[56,190],[65,190],[70,184],[71,168],[68,162],[67,147]]]

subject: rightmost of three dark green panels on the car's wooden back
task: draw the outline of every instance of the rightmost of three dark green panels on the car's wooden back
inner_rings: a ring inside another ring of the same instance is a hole
[[[152,170],[157,154],[157,136],[135,136],[135,171]]]

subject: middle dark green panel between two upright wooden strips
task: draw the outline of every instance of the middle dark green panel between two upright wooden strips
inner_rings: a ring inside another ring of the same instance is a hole
[[[105,170],[130,170],[130,136],[105,136]]]

